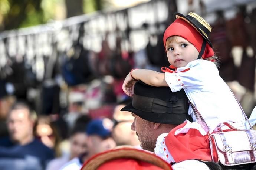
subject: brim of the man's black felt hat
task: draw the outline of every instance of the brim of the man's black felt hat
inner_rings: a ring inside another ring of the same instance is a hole
[[[132,103],[122,108],[121,111],[132,112],[135,115],[139,116],[140,118],[145,119],[149,122],[154,122],[154,123],[180,125],[186,119],[192,121],[191,117],[188,116],[188,113],[175,114],[175,113],[144,112],[144,111],[135,109],[132,106]]]

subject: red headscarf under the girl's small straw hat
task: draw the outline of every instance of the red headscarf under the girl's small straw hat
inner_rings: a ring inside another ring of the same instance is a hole
[[[166,40],[171,36],[180,36],[190,43],[192,43],[198,52],[201,51],[203,36],[189,23],[183,19],[176,19],[164,32],[164,48],[166,45]],[[212,57],[214,55],[213,49],[210,47],[209,43],[206,43],[206,48],[202,58]]]

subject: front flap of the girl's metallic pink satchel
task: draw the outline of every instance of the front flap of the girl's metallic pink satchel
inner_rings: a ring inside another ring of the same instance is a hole
[[[252,134],[252,137],[256,139],[256,131],[255,130],[249,130]],[[228,132],[217,132],[212,133],[211,135],[215,138],[216,147],[222,151],[226,152],[224,149],[223,141],[220,137],[220,133],[224,134],[224,137],[226,139],[226,143],[228,149],[232,149],[232,152],[239,152],[239,151],[246,151],[251,150],[250,147],[250,141],[247,136],[246,131],[228,131]]]

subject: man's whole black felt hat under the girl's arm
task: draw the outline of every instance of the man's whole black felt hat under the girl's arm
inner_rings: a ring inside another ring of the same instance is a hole
[[[136,82],[132,102],[121,111],[132,112],[142,119],[155,123],[179,125],[188,115],[188,99],[183,89],[171,92],[169,87],[155,87]]]

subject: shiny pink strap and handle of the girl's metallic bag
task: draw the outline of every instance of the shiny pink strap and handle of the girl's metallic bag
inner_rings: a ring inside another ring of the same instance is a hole
[[[231,89],[230,89],[230,91],[232,92]],[[233,94],[233,96],[234,96],[234,93],[233,93],[233,92],[232,92],[232,94]],[[236,99],[236,96],[234,96],[234,98]],[[247,122],[249,123],[250,128],[253,129],[253,128],[252,128],[252,125],[251,125],[250,122],[249,122],[249,119],[247,118],[246,114],[245,114],[244,111],[243,111],[242,106],[240,105],[240,103],[238,102],[237,99],[236,99],[236,101],[237,101],[237,103],[238,103],[240,109],[242,110],[245,119],[246,119]],[[196,106],[195,106],[192,102],[190,102],[190,105],[191,105],[191,108],[193,109],[193,111],[194,111],[194,113],[195,113],[195,116],[196,116],[196,119],[198,120],[198,123],[200,123],[200,125],[201,125],[201,127],[204,129],[204,131],[205,131],[207,134],[209,134],[209,133],[210,133],[210,129],[209,129],[208,125],[206,124],[205,120],[203,119],[203,116],[200,114],[200,112],[197,110]],[[234,130],[241,130],[241,129],[234,128],[232,125],[230,125],[230,124],[227,123],[227,122],[223,122],[223,124],[226,125],[226,126],[228,126],[228,127],[231,128],[231,129],[234,129]]]

